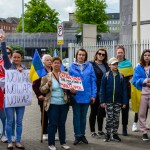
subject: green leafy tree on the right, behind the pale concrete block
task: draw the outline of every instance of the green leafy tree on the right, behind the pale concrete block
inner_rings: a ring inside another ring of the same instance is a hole
[[[75,0],[75,18],[80,24],[96,24],[98,32],[109,31],[105,0]]]

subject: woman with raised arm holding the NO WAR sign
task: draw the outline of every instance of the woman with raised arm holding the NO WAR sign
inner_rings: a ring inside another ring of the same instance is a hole
[[[6,51],[6,43],[5,43],[5,33],[0,35],[0,41],[1,41],[1,49],[2,49],[2,55],[4,60],[4,67],[5,69],[10,70],[18,70],[22,71],[23,69],[27,69],[25,66],[21,64],[22,60],[22,53],[20,51],[14,51],[12,54],[12,62],[8,58],[8,54]],[[22,135],[22,121],[24,116],[25,106],[21,107],[8,107],[5,108],[6,113],[6,133],[8,138],[8,146],[7,149],[13,149],[12,144],[12,125],[13,125],[13,118],[14,118],[14,112],[16,112],[16,148],[18,149],[25,149],[24,146],[20,143],[21,141],[21,135]]]

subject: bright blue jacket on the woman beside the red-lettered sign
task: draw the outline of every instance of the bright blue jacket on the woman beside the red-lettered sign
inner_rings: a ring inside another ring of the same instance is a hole
[[[96,98],[96,76],[91,63],[85,62],[82,71],[77,63],[73,63],[68,72],[71,76],[80,77],[82,80],[84,91],[76,91],[74,96],[77,103],[90,103],[91,97]]]

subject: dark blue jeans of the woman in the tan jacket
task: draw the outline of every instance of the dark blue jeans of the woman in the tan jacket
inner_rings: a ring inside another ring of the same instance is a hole
[[[60,144],[66,143],[65,123],[69,106],[51,104],[48,110],[48,144],[55,145],[55,133],[58,129]]]

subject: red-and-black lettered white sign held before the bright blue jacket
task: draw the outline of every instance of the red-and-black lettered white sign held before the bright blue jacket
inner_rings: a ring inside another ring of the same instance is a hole
[[[59,76],[60,87],[63,89],[74,88],[77,91],[84,91],[80,77],[72,77],[68,74],[61,73]]]

